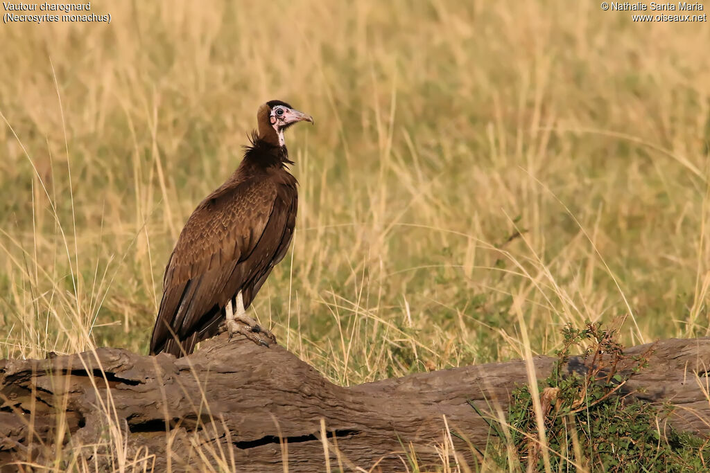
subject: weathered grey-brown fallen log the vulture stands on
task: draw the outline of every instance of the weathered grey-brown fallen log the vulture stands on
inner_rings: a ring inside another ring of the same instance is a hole
[[[625,391],[670,402],[677,406],[670,417],[676,428],[709,433],[710,339],[664,340],[650,353],[648,367],[631,376]],[[553,362],[535,357],[537,377],[547,377]],[[566,369],[584,371],[584,360],[572,358]],[[4,360],[0,465],[46,462],[63,452],[65,462],[125,460],[141,470],[147,462],[155,471],[200,469],[204,462],[283,471],[287,459],[290,472],[315,472],[324,471],[328,457],[335,470],[377,464],[390,472],[404,470],[412,450],[420,467],[441,465],[447,441],[449,454],[453,443],[471,464],[474,450],[447,428],[484,447],[488,423],[467,401],[496,417],[527,376],[525,362],[515,361],[342,387],[283,347],[228,342],[224,335],[179,360],[115,348]]]

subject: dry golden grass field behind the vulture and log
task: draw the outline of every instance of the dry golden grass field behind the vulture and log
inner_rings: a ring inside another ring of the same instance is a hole
[[[0,26],[0,356],[146,352],[163,269],[287,137],[297,231],[254,311],[334,382],[707,335],[707,23],[594,2],[92,2]],[[520,232],[520,235],[518,235]],[[513,237],[513,238],[511,238]]]

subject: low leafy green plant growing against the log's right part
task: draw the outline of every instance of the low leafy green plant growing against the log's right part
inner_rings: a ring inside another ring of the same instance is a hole
[[[613,330],[601,323],[588,322],[583,329],[567,325],[563,335],[552,374],[538,383],[546,445],[525,385],[513,391],[507,425],[490,422],[501,439],[507,428],[509,445],[489,449],[486,456],[506,469],[528,472],[708,471],[708,440],[679,433],[666,422],[670,406],[640,401],[633,396],[638,392],[628,389],[628,379],[646,366],[653,346],[628,357]],[[588,346],[583,355],[570,356],[583,345]]]

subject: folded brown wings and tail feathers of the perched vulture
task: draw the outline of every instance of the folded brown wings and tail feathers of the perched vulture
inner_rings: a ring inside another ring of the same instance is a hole
[[[192,352],[216,333],[226,302],[254,274],[271,272],[285,234],[290,241],[293,233],[295,192],[289,194],[283,184],[260,179],[223,186],[197,206],[165,268],[151,353]]]

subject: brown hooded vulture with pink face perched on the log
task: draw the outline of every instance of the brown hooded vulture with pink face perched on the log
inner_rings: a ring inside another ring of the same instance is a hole
[[[275,341],[246,315],[271,269],[283,259],[296,221],[296,179],[283,140],[286,128],[313,118],[285,102],[259,107],[258,131],[234,174],[197,206],[170,255],[151,355],[190,355],[226,318],[229,335]]]

